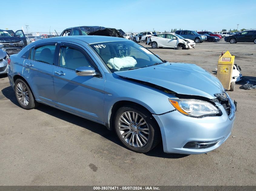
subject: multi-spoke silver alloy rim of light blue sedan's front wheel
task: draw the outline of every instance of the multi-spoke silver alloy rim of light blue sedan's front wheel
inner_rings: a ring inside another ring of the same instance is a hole
[[[145,119],[134,111],[125,111],[118,119],[118,131],[123,140],[132,147],[145,146],[150,131]]]

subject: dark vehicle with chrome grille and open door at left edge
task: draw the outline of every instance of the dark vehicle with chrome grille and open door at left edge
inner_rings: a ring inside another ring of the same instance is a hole
[[[15,33],[13,30],[0,30],[0,45],[3,45],[3,51],[11,55],[21,51],[27,45],[27,40],[22,30]]]

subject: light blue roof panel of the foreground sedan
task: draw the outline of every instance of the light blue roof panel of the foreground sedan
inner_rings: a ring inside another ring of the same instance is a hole
[[[56,39],[56,40],[75,39],[75,40],[81,40],[88,44],[101,43],[101,42],[103,43],[103,42],[115,42],[115,41],[130,41],[128,39],[120,38],[120,37],[107,37],[107,36],[97,36],[97,35],[53,37],[53,38],[44,39],[44,41],[48,41],[48,40],[52,41],[53,39]]]

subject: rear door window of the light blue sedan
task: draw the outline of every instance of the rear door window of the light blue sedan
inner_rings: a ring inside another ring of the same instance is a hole
[[[45,45],[36,47],[31,51],[30,58],[38,62],[54,64],[55,45]],[[32,55],[33,54],[33,55]]]

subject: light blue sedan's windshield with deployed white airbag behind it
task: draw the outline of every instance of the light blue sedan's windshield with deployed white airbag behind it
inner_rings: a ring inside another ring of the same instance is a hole
[[[110,71],[145,68],[163,61],[145,47],[133,41],[115,41],[90,44]]]

